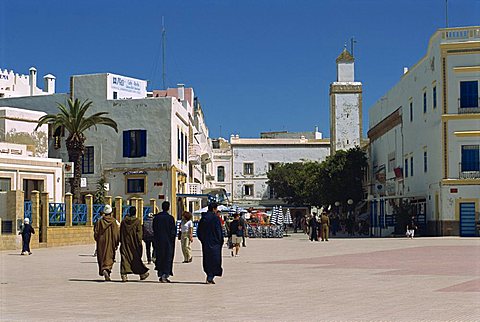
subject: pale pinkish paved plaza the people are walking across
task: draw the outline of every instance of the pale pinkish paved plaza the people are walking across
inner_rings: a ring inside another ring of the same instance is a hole
[[[94,245],[0,252],[2,321],[479,321],[480,239],[248,239],[223,250],[224,276],[204,284],[201,251],[173,283],[97,275]],[[153,269],[153,265],[149,265]]]

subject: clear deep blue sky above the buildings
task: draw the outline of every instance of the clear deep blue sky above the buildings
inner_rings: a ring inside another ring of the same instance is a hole
[[[449,0],[449,26],[480,25],[480,0]],[[111,72],[199,97],[210,136],[262,131],[329,136],[335,59],[354,36],[356,79],[371,107],[426,53],[445,26],[445,0],[0,0],[0,68],[39,78]]]

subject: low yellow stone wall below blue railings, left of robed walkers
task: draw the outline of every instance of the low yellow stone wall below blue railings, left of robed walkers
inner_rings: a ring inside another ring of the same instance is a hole
[[[48,227],[47,247],[86,245],[94,243],[93,227]]]

